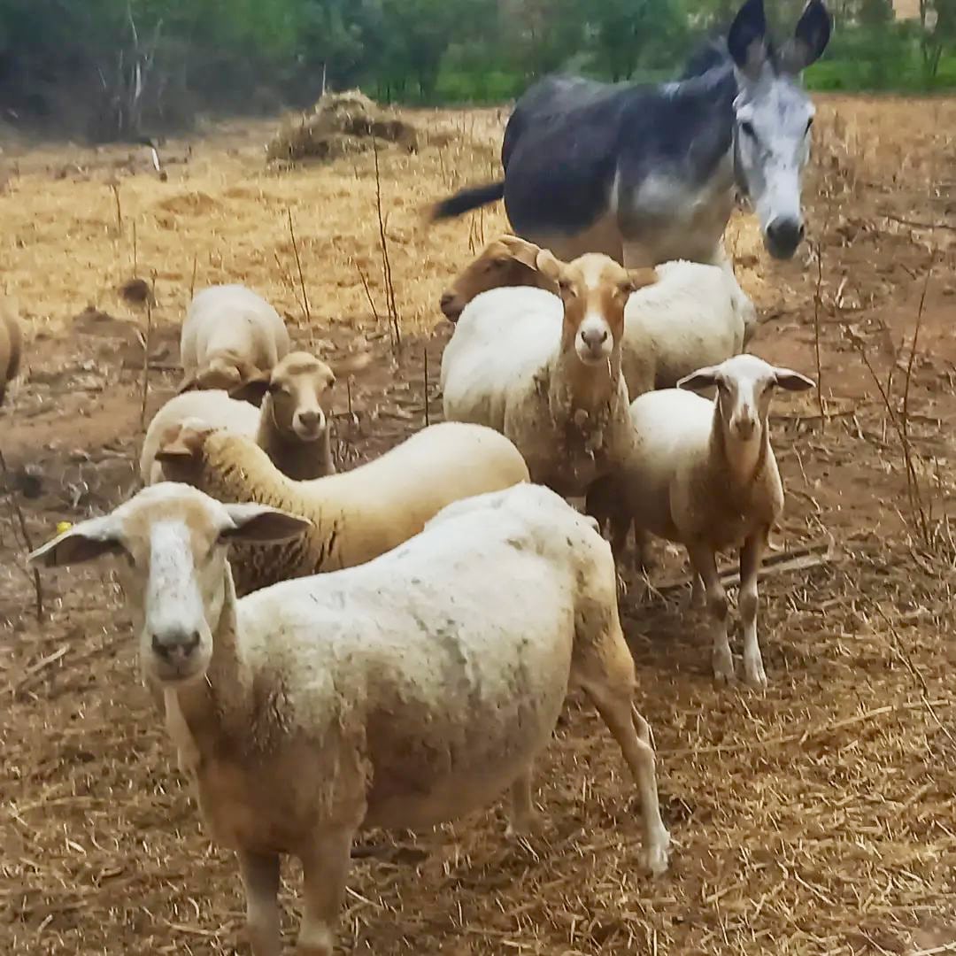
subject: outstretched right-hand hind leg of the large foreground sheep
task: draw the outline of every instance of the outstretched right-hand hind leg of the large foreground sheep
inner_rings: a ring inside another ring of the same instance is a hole
[[[641,797],[644,847],[641,863],[655,876],[667,869],[670,834],[661,819],[657,770],[650,728],[634,707],[634,658],[617,624],[576,672],[576,681],[591,698],[618,742]]]

